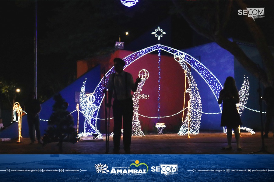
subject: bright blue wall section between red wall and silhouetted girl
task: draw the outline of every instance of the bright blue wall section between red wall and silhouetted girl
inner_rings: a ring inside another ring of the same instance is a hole
[[[228,76],[234,77],[234,56],[215,42],[182,51],[204,64],[219,79],[222,85]],[[205,113],[220,112],[218,102],[209,86],[193,69],[191,69],[191,73],[201,94],[202,111]],[[240,87],[238,88],[240,89]],[[220,127],[220,122],[221,114],[202,114],[200,130],[223,130],[223,127]]]

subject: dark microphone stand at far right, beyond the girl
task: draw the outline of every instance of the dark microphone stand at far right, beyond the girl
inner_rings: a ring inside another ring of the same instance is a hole
[[[260,86],[260,65],[257,65],[258,66],[258,85],[259,85],[259,88],[258,88],[258,93],[259,93],[259,104],[260,104],[260,115],[261,115],[261,138],[262,138],[262,149],[259,150],[259,151],[256,151],[256,152],[251,152],[251,153],[248,153],[248,154],[253,154],[253,153],[258,153],[258,152],[264,152],[264,153],[268,153],[268,154],[273,154],[271,152],[268,152],[266,150],[267,146],[265,146],[265,140],[264,140],[264,123],[263,123],[263,119],[262,119],[262,89],[261,89],[261,86]]]

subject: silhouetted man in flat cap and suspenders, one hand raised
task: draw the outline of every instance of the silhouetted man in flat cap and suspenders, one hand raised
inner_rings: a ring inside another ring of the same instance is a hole
[[[115,154],[119,153],[122,118],[123,118],[123,143],[126,154],[130,154],[130,144],[132,135],[132,116],[133,116],[133,101],[131,91],[135,92],[138,87],[138,83],[141,78],[137,78],[134,83],[132,75],[123,71],[125,61],[120,58],[114,60],[115,73],[111,74],[107,89],[108,89],[108,104],[107,107],[111,107],[112,97],[113,101],[113,117],[114,117],[114,130],[113,130],[113,143]]]

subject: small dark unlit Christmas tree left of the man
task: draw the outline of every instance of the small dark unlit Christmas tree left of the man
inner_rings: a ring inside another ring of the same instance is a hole
[[[60,153],[63,152],[63,142],[76,143],[78,141],[76,126],[74,126],[73,116],[67,111],[68,103],[60,94],[53,97],[55,100],[52,106],[53,113],[48,120],[48,127],[43,137],[45,144],[58,142]]]

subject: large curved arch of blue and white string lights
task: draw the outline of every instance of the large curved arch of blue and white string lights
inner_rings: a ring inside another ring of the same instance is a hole
[[[208,84],[209,88],[212,90],[216,100],[218,100],[220,90],[223,89],[223,86],[221,85],[220,81],[216,78],[216,76],[214,76],[213,73],[211,71],[209,71],[209,69],[207,69],[206,66],[204,66],[197,59],[195,59],[192,56],[190,56],[182,51],[179,51],[177,49],[173,49],[171,47],[161,45],[161,44],[147,47],[145,49],[134,52],[134,53],[126,56],[125,58],[123,58],[123,60],[125,61],[125,68],[128,67],[133,62],[135,62],[136,60],[138,60],[139,58],[145,56],[146,54],[149,54],[153,51],[158,51],[158,50],[163,50],[165,52],[168,52],[168,53],[174,55],[174,59],[180,63],[180,65],[183,67],[183,69],[187,67],[187,66],[185,66],[186,64],[190,65],[192,67],[192,69],[195,70],[205,80],[205,82]],[[103,98],[104,98],[104,93],[103,93],[104,85],[105,85],[104,81],[106,81],[106,83],[107,83],[109,76],[112,73],[114,73],[114,67],[112,67],[106,73],[105,80],[104,80],[104,78],[102,78],[100,80],[99,84],[97,85],[97,87],[95,88],[95,90],[93,92],[93,96],[95,97],[95,100],[93,102],[93,110],[90,113],[90,117],[89,117],[90,122],[89,123],[94,123],[94,124],[96,123],[97,116],[99,113],[98,111],[99,111],[99,108],[100,108]],[[84,83],[86,83],[86,80]],[[200,103],[200,100],[198,100],[196,98],[195,102]],[[221,106],[219,105],[219,107],[220,107],[220,111],[221,111],[222,110]],[[81,106],[81,108],[82,108],[82,106]],[[197,116],[200,116],[202,114],[201,106],[199,106],[199,105],[196,107],[191,106],[191,108],[193,109],[192,113],[199,113]],[[200,120],[200,117],[198,117],[197,119]],[[89,126],[86,126],[86,127],[87,127],[86,129],[89,130],[89,132],[86,132],[87,135],[90,135],[90,133],[98,133],[99,132],[96,129],[96,125],[92,124],[90,129],[88,128]]]

